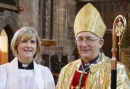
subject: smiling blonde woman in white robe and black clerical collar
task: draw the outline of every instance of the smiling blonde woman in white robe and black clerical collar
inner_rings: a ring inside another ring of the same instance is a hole
[[[12,38],[15,58],[0,65],[0,89],[55,89],[50,70],[37,65],[41,44],[34,28],[23,27]]]

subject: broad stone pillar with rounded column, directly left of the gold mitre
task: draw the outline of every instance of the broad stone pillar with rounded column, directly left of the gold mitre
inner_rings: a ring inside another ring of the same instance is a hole
[[[75,19],[75,0],[57,0],[57,46],[63,47],[63,55],[68,55],[69,62],[74,59],[73,51],[74,32],[73,22]],[[73,10],[73,11],[72,11]],[[71,13],[72,12],[72,13]]]

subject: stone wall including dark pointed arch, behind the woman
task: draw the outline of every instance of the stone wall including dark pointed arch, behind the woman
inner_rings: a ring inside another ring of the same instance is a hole
[[[24,11],[0,8],[0,32],[4,29],[8,36],[8,54],[11,61],[14,57],[10,48],[11,39],[14,33],[21,27],[32,26],[39,31],[38,27],[38,10],[39,0],[19,0],[19,6]]]

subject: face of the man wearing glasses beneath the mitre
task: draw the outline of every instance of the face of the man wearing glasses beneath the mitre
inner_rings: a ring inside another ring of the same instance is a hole
[[[76,43],[82,60],[88,63],[98,56],[104,40],[91,32],[80,32],[76,37]]]

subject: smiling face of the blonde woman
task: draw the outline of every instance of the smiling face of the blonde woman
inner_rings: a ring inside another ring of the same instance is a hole
[[[23,40],[18,44],[18,59],[20,62],[30,63],[36,53],[37,42],[34,37]]]

